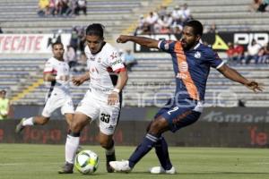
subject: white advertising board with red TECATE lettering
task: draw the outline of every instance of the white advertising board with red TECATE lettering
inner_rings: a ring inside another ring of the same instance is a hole
[[[0,34],[1,54],[50,54],[51,44],[61,40],[65,47],[71,34]]]

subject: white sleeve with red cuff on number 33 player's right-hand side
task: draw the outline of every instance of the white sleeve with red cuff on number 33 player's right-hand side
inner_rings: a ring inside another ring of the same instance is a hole
[[[116,50],[108,54],[108,64],[113,72],[125,71],[125,65]]]

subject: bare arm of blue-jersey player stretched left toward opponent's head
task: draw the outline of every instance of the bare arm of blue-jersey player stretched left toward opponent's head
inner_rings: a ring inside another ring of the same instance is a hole
[[[159,41],[152,38],[143,38],[136,36],[124,36],[121,35],[117,38],[117,43],[126,43],[127,41],[132,41],[143,47],[158,48]]]

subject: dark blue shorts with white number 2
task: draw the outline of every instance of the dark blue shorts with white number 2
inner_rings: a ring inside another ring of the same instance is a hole
[[[182,127],[195,123],[201,115],[201,112],[195,111],[198,101],[185,98],[170,98],[168,103],[162,107],[154,116],[162,116],[169,122],[171,132],[176,132]]]

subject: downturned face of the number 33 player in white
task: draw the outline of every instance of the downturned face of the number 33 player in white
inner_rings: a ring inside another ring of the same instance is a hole
[[[91,54],[96,54],[100,51],[104,39],[99,36],[86,36],[87,46],[90,48]]]

